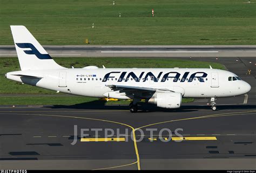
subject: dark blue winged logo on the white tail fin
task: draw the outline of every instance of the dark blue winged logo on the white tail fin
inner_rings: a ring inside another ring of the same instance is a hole
[[[38,59],[52,59],[49,54],[40,53],[31,43],[16,43],[19,48],[30,48],[29,51],[24,51],[26,54],[35,54]]]

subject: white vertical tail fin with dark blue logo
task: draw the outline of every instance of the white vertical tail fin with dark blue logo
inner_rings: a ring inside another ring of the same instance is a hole
[[[64,68],[58,65],[25,26],[10,26],[21,70]]]

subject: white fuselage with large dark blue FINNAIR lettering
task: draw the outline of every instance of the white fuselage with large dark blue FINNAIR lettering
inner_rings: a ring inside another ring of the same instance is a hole
[[[26,78],[26,75],[40,79]],[[247,82],[240,78],[228,80],[230,77],[237,75],[211,68],[63,68],[6,74],[6,78],[24,84],[97,98],[133,99],[133,95],[119,93],[107,85],[168,89],[181,93],[183,98],[220,98],[250,91],[251,86]]]

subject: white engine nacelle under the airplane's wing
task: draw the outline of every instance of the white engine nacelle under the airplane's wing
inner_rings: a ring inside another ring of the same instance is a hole
[[[148,103],[153,103],[157,107],[174,109],[181,106],[181,93],[157,93],[149,99]]]

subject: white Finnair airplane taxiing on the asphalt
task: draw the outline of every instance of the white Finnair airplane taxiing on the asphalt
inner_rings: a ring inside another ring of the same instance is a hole
[[[216,99],[251,90],[232,72],[210,68],[65,68],[58,65],[25,26],[11,25],[21,71],[5,77],[56,92],[96,98],[132,99],[130,112],[145,99],[157,107],[175,109],[182,98]]]

